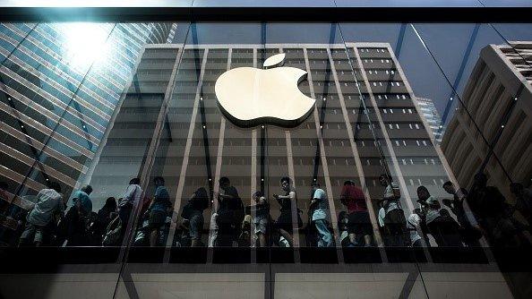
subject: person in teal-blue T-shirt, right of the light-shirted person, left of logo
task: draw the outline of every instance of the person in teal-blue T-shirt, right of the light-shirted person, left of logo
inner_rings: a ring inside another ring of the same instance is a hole
[[[148,212],[150,213],[150,246],[157,245],[159,239],[159,229],[164,226],[167,214],[172,207],[170,194],[165,187],[165,179],[157,176],[153,179],[155,184],[155,195],[151,201]]]

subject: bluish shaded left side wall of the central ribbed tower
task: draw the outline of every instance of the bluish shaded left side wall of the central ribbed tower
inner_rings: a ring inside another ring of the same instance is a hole
[[[159,122],[160,110],[178,62],[178,51],[164,46],[141,51],[132,84],[83,180],[95,186],[92,201],[96,207],[103,205],[107,197],[120,196],[131,178],[142,176],[139,170],[146,157],[152,155],[149,150],[157,124],[166,125],[164,119]]]

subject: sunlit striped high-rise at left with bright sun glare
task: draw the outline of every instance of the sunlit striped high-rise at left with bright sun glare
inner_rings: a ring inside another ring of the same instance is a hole
[[[2,206],[27,208],[48,181],[64,194],[90,171],[146,43],[172,23],[0,24]],[[7,212],[2,210],[2,212]],[[4,226],[13,226],[4,218]]]

